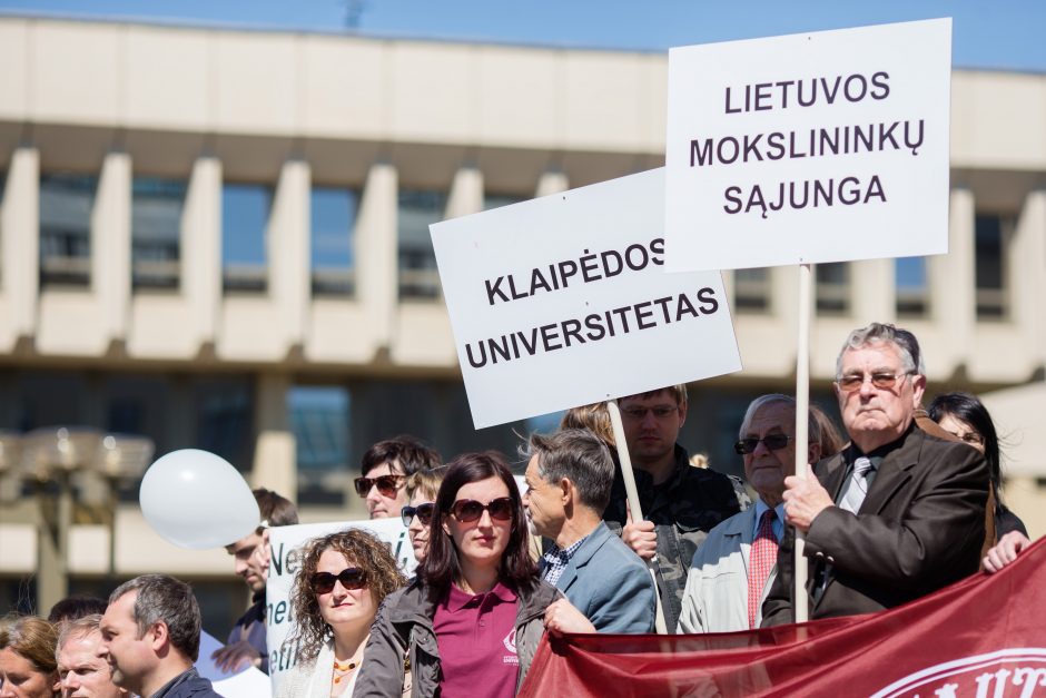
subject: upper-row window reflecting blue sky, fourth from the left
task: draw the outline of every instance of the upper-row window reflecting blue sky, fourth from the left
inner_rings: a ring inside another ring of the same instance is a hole
[[[313,295],[352,295],[356,287],[354,228],[359,194],[353,189],[313,187]]]

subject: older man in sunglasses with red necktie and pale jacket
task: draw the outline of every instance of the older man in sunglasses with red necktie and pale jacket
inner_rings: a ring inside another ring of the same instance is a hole
[[[817,462],[817,420],[808,416],[807,462]],[[777,576],[778,547],[784,532],[781,495],[784,478],[796,470],[796,401],[761,395],[741,422],[734,450],[756,490],[756,505],[712,529],[698,548],[687,576],[678,632],[734,632],[758,628],[762,602]]]

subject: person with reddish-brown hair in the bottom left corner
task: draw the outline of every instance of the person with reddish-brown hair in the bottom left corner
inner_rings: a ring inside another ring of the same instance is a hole
[[[36,616],[0,620],[0,695],[58,698],[58,630]]]

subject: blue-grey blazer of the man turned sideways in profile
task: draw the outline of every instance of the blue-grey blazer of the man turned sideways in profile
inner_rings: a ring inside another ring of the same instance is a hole
[[[653,579],[602,521],[574,551],[555,587],[600,632],[653,632]]]

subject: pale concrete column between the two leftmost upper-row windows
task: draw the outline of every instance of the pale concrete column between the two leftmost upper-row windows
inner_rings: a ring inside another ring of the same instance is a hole
[[[125,340],[131,291],[131,159],[126,153],[109,153],[101,165],[91,212],[91,287],[105,336]]]

